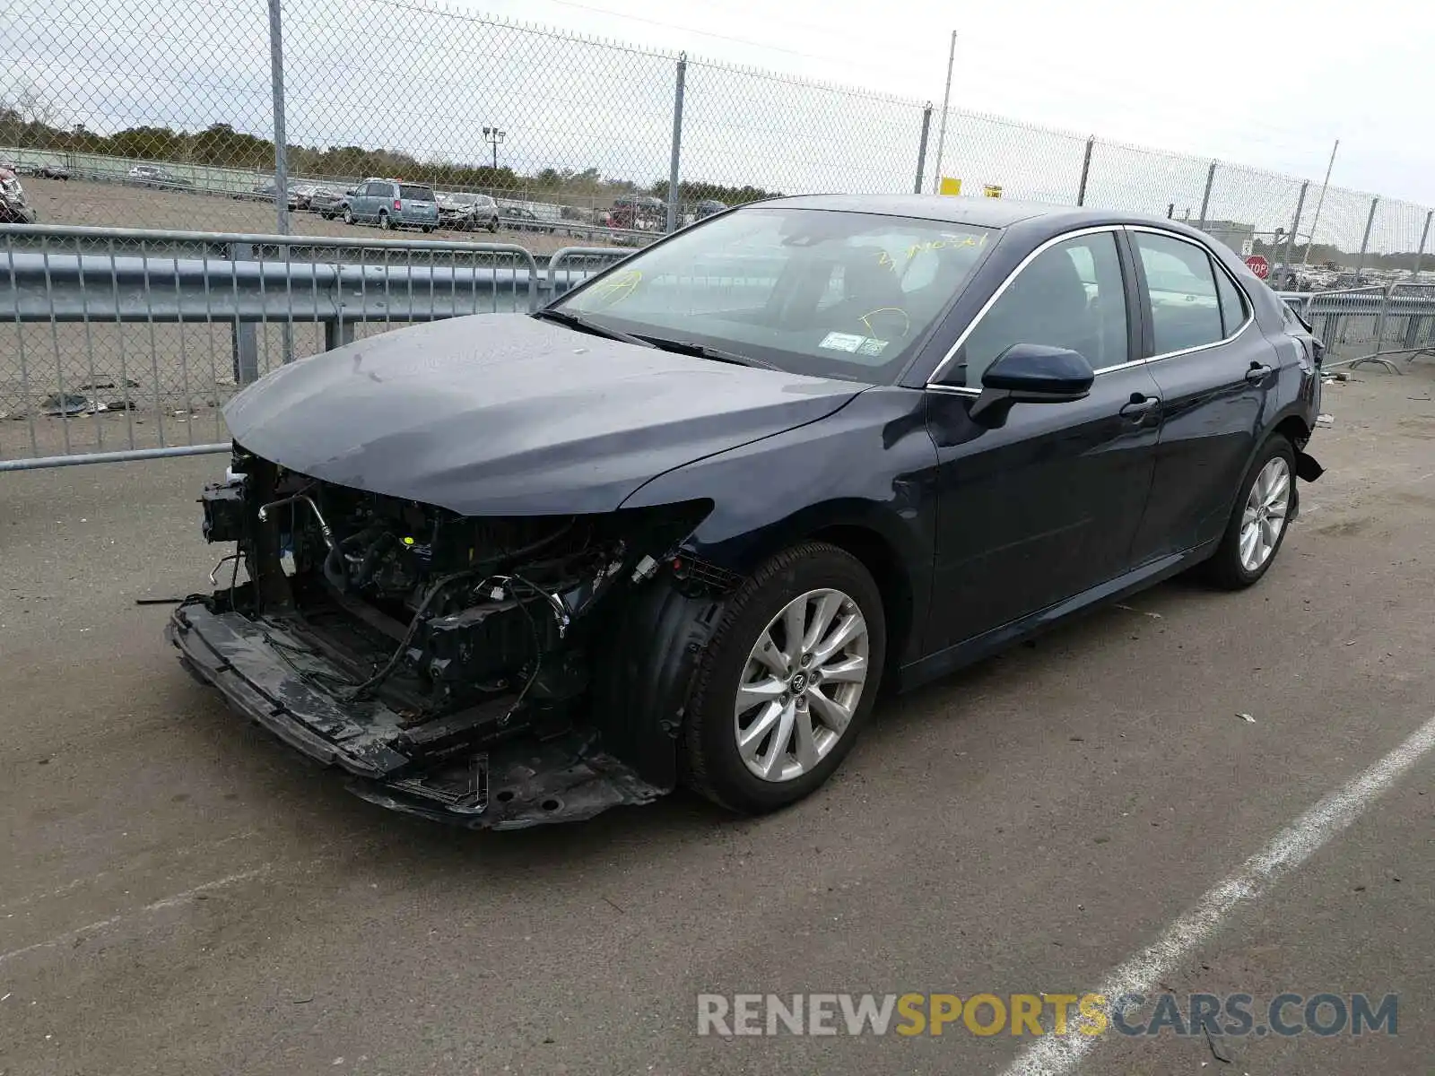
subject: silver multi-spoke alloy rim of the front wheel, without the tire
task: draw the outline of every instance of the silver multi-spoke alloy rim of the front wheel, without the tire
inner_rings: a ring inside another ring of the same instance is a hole
[[[811,590],[768,623],[733,704],[738,755],[755,776],[794,780],[827,758],[861,702],[867,650],[867,620],[839,590]]]

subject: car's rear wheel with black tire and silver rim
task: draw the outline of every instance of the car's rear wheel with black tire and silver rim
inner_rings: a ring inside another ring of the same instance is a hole
[[[1276,433],[1241,482],[1215,555],[1203,568],[1223,590],[1250,587],[1276,560],[1296,509],[1296,448]]]

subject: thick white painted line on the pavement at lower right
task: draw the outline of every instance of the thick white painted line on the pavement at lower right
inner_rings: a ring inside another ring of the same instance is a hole
[[[1149,994],[1194,948],[1220,930],[1238,905],[1258,900],[1283,875],[1294,871],[1355,822],[1402,773],[1435,747],[1435,717],[1368,770],[1336,789],[1247,859],[1241,868],[1205,892],[1195,907],[1171,922],[1154,944],[1112,971],[1096,987],[1108,1001],[1126,993]],[[1062,1076],[1075,1070],[1099,1037],[1049,1034],[1017,1054],[1003,1076]]]

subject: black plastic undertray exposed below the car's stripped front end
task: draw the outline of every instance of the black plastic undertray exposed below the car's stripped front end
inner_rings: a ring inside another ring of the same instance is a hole
[[[395,811],[474,829],[521,829],[666,792],[604,752],[591,729],[415,759],[402,750],[402,716],[377,700],[350,706],[337,699],[321,686],[321,659],[284,637],[281,626],[187,603],[165,634],[184,667],[231,709],[316,762],[346,770],[356,795]]]

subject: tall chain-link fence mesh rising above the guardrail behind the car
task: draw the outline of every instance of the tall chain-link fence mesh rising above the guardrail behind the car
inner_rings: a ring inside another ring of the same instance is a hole
[[[639,245],[809,191],[1079,202],[1210,225],[1273,264],[1411,268],[1424,207],[1000,116],[687,59],[430,0],[11,0],[0,161],[56,224],[344,235],[369,176],[494,199],[537,254]],[[284,171],[276,197],[276,95]],[[69,187],[57,187],[67,175]],[[676,188],[674,188],[676,184]],[[486,202],[482,202],[486,205]],[[1373,207],[1373,212],[1372,212]],[[482,214],[451,212],[476,227]]]

